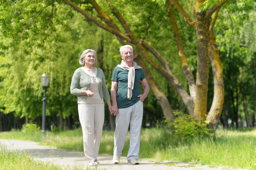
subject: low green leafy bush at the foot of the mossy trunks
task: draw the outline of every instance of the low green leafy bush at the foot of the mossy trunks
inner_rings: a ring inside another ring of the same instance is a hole
[[[179,111],[175,111],[175,115],[177,118],[172,123],[167,124],[166,128],[171,128],[177,143],[213,137],[214,134],[211,132],[211,129],[207,128],[207,121],[198,121],[195,117]],[[167,122],[167,119],[165,122]]]

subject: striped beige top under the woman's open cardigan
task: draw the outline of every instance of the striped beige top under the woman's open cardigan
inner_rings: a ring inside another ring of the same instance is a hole
[[[92,77],[90,91],[93,92],[94,95],[92,97],[86,97],[85,100],[78,98],[77,103],[79,104],[104,103],[103,99],[101,99],[101,96],[99,94],[99,81],[97,78],[95,78],[97,75],[97,68],[95,68],[94,72],[89,72],[89,71],[86,71],[86,69],[83,67],[83,71],[85,71],[85,73],[87,73]]]

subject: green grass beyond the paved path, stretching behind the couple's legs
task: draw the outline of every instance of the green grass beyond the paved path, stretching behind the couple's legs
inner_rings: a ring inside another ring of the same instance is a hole
[[[184,161],[204,165],[227,166],[232,168],[256,169],[256,129],[241,128],[239,130],[217,129],[216,137],[194,139],[191,142],[175,143],[173,135],[166,129],[142,129],[140,158],[155,161]],[[46,132],[41,139],[40,131],[34,135],[24,132],[1,132],[0,139],[20,139],[38,141],[40,144],[65,150],[83,152],[83,137],[81,129],[61,132]],[[100,154],[113,154],[114,132],[103,131]],[[122,152],[127,155],[129,148],[129,132]],[[150,149],[149,149],[150,148]]]

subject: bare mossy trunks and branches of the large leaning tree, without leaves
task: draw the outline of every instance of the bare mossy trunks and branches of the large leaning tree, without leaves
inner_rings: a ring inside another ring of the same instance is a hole
[[[141,56],[143,56],[146,62],[148,62],[153,68],[157,69],[157,71],[163,75],[163,77],[168,81],[168,83],[173,86],[176,93],[180,96],[180,98],[186,105],[189,114],[198,117],[198,119],[202,121],[206,120],[205,115],[207,115],[206,94],[208,92],[209,62],[211,62],[213,68],[215,88],[214,99],[209,114],[207,116],[207,120],[210,122],[209,127],[216,127],[222,112],[224,100],[224,84],[222,78],[222,67],[218,54],[218,46],[216,45],[213,27],[218,17],[218,11],[220,10],[220,7],[222,7],[222,5],[225,4],[225,2],[227,2],[227,0],[205,2],[196,0],[195,9],[193,13],[195,20],[191,19],[191,17],[186,13],[186,11],[184,11],[182,5],[177,0],[166,0],[166,6],[168,8],[168,18],[170,19],[173,26],[174,37],[177,42],[177,47],[179,51],[178,54],[181,59],[183,73],[186,76],[186,79],[189,84],[190,95],[184,90],[178,79],[173,75],[171,67],[169,63],[166,62],[164,57],[162,57],[162,55],[155,48],[153,48],[153,46],[151,46],[146,40],[141,40],[136,37],[135,33],[129,26],[129,21],[127,21],[123,16],[125,14],[119,12],[121,11],[122,7],[117,8],[118,6],[117,4],[115,4],[115,2],[107,1],[109,10],[111,10],[112,15],[115,16],[115,18],[117,18],[119,22],[118,26],[116,24],[117,21],[111,18],[113,16],[108,14],[106,12],[107,10],[103,9],[95,0],[88,2],[85,1],[84,3],[85,5],[92,5],[92,7],[97,11],[97,17],[99,17],[101,21],[97,20],[96,17],[88,13],[86,9],[83,9],[82,4],[76,4],[77,2],[75,3],[71,0],[64,1],[68,5],[70,5],[74,10],[84,15],[85,18],[97,24],[97,26],[115,34],[121,44],[130,43],[136,47],[135,55],[137,55],[137,57],[135,58],[135,60],[144,68],[144,71],[146,72],[146,77],[150,84],[150,88],[152,89],[155,96],[159,100],[159,103],[162,104],[162,109],[165,117],[171,118],[171,121],[175,119],[171,105],[169,104],[163,92],[159,90],[157,82],[153,79],[153,76],[150,74],[150,71],[147,69],[146,64],[144,63],[144,60],[142,60]],[[128,4],[129,2],[133,2],[135,5],[137,5],[136,2],[134,1],[126,1],[126,4]],[[150,4],[154,6],[159,6],[159,4],[155,4],[154,2],[151,2]],[[121,5],[119,4],[119,6]],[[198,55],[196,80],[194,79],[193,74],[190,71],[189,65],[186,61],[184,49],[182,46],[182,40],[180,37],[179,29],[177,27],[173,7],[176,8],[176,10],[184,18],[186,23],[189,24],[196,32]],[[150,10],[150,12],[152,11]],[[212,18],[213,14],[214,16]],[[122,29],[124,30],[124,32],[121,31]],[[150,57],[149,53],[156,57],[157,60],[162,64],[162,66],[154,62],[152,57]]]

